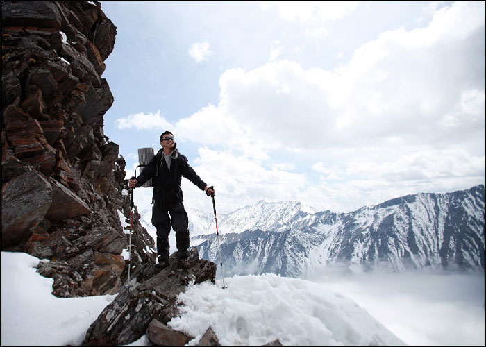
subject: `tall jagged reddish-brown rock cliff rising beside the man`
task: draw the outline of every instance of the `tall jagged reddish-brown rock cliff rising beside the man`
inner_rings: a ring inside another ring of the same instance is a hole
[[[101,77],[116,27],[101,3],[2,2],[2,251],[50,262],[57,296],[112,294],[130,216],[125,161],[103,134],[113,103]],[[153,239],[133,215],[132,266],[152,262]]]

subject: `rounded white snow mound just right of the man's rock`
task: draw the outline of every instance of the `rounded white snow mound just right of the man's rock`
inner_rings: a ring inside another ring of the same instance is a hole
[[[403,345],[351,299],[305,280],[274,274],[210,282],[178,296],[181,316],[167,325],[201,339],[208,326],[221,345]]]

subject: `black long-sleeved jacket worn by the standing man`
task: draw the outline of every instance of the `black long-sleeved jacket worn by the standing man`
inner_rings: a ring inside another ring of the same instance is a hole
[[[149,164],[146,165],[142,173],[137,177],[136,187],[142,186],[147,180],[153,178],[153,198],[155,200],[183,201],[181,180],[182,176],[184,176],[199,189],[204,190],[206,183],[190,167],[185,155],[178,153],[177,149],[174,149],[171,153],[169,170],[162,153],[163,149],[160,149]]]

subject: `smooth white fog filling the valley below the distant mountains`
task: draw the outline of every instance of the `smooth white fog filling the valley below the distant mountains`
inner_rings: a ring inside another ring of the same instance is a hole
[[[485,274],[310,273],[340,291],[406,344],[485,346]]]

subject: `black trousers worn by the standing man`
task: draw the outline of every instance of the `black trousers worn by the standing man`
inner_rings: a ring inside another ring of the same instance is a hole
[[[169,217],[170,215],[170,217]],[[169,257],[169,233],[176,232],[176,246],[179,257],[187,257],[189,241],[189,219],[182,201],[164,202],[154,201],[152,208],[152,225],[157,229],[157,253],[162,257]]]

